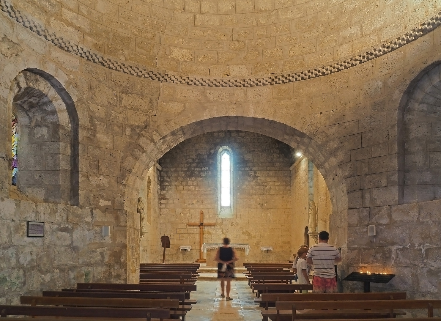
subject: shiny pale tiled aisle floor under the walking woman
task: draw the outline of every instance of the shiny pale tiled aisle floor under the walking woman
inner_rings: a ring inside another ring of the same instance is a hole
[[[262,308],[254,303],[254,294],[247,281],[232,281],[230,297],[221,298],[221,285],[216,281],[197,281],[198,291],[191,299],[198,303],[187,312],[187,321],[261,321]]]

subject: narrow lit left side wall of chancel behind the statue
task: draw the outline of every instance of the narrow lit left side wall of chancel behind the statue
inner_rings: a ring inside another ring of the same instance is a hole
[[[144,188],[140,190],[140,197],[143,198],[146,206],[146,220],[144,222],[146,235],[139,240],[140,263],[162,262],[161,234],[159,224],[159,168],[161,167],[156,165],[149,169],[147,177],[144,180]]]

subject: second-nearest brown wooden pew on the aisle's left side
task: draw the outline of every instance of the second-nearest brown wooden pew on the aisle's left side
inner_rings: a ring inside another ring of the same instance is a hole
[[[159,308],[170,309],[172,319],[185,321],[186,310],[179,310],[179,300],[171,299],[121,299],[121,298],[67,298],[22,296],[21,304],[32,306],[81,306],[81,307],[118,307],[118,308]]]

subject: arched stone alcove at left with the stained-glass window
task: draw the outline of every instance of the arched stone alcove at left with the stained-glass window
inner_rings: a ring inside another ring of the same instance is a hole
[[[11,196],[77,205],[78,116],[71,97],[35,69],[19,73],[11,91],[19,129],[17,191]]]

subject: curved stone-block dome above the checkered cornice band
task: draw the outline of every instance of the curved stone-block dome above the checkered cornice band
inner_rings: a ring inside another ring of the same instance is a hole
[[[440,10],[432,0],[11,2],[68,40],[121,62],[232,77],[344,60]]]

